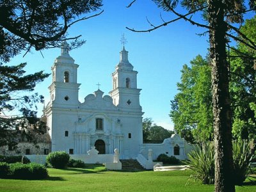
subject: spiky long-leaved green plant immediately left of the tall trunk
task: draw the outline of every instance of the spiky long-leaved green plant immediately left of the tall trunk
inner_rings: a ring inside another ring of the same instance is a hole
[[[214,184],[214,147],[205,143],[188,154],[189,168],[193,171],[190,179],[201,180],[203,184]]]

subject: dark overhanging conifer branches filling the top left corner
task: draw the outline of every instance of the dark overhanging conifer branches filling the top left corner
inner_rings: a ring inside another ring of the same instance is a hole
[[[79,36],[67,37],[67,30],[98,10],[102,0],[0,0],[0,61],[8,62],[20,51],[60,47],[74,40],[70,48],[84,44]]]

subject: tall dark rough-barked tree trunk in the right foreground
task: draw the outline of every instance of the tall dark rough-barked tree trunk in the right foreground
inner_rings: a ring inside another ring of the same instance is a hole
[[[224,4],[209,0],[210,56],[212,67],[212,102],[214,115],[215,191],[235,191],[232,157],[232,122],[228,90]]]

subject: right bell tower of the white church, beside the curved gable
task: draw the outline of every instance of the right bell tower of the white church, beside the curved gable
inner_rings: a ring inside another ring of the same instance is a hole
[[[112,74],[113,90],[109,92],[115,106],[124,110],[141,111],[141,89],[137,88],[137,74],[128,60],[128,51],[123,45],[120,61]]]

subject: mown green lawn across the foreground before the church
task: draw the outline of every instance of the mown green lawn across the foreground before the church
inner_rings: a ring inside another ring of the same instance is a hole
[[[49,169],[45,180],[0,179],[0,191],[213,191],[213,185],[188,181],[189,171],[111,172],[103,166]],[[236,191],[256,191],[249,182]]]

